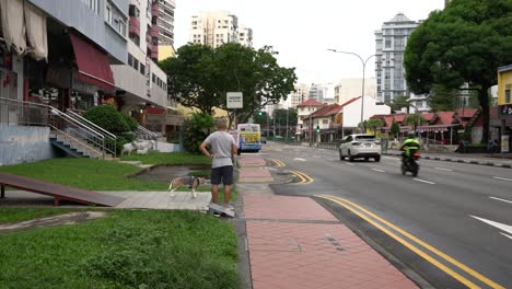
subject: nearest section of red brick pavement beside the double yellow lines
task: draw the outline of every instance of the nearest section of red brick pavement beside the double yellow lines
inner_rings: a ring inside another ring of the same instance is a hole
[[[254,289],[417,288],[313,199],[243,200]]]

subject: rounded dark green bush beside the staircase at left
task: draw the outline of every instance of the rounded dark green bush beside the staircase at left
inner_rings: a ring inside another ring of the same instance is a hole
[[[93,106],[85,112],[83,117],[114,135],[130,131],[123,114],[112,105]]]

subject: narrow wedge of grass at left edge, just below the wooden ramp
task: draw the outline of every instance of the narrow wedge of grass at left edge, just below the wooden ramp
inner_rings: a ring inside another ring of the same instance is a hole
[[[0,207],[0,223],[13,223],[75,211],[61,208]]]

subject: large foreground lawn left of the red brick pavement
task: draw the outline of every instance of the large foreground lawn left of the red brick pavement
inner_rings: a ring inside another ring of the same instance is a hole
[[[2,288],[238,288],[233,228],[199,212],[115,210],[0,247]]]

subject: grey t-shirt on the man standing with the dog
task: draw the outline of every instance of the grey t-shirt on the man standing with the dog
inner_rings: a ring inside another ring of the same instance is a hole
[[[216,131],[208,136],[205,142],[210,144],[211,153],[213,153],[211,167],[233,165],[233,162],[231,161],[231,151],[233,144],[236,146],[233,136],[225,131]]]

